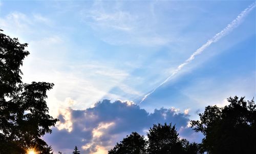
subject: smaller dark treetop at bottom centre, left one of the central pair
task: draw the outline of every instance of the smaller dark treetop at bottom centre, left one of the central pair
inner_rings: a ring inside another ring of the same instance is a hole
[[[146,141],[144,136],[132,132],[126,136],[120,143],[109,151],[109,154],[144,154],[146,153]]]

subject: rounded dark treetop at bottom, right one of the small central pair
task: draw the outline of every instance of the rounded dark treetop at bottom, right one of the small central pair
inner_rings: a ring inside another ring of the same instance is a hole
[[[172,123],[167,125],[154,124],[147,133],[149,154],[160,153],[182,153],[183,147],[179,139],[179,134],[176,131],[175,125]]]

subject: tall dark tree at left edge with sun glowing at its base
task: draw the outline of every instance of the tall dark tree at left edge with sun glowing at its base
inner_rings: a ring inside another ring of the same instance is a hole
[[[46,92],[53,83],[22,82],[20,66],[29,55],[27,43],[19,43],[0,30],[0,153],[52,153],[40,137],[51,133],[58,121],[48,114]]]

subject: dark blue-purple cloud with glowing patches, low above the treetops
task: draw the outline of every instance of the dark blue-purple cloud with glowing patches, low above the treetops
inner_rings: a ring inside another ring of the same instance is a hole
[[[188,115],[178,113],[175,108],[155,109],[150,114],[129,101],[102,100],[85,110],[68,108],[65,114],[58,116],[60,123],[57,127],[60,129],[61,124],[72,122],[72,130],[54,127],[53,133],[44,137],[55,152],[59,150],[63,154],[70,153],[75,145],[82,153],[96,152],[99,147],[108,150],[132,131],[146,135],[146,130],[153,124],[164,122],[176,124],[180,136],[190,141],[200,141],[202,137],[198,138],[200,135],[187,128]]]

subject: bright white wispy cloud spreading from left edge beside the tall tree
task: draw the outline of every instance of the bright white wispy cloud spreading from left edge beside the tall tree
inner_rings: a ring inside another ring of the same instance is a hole
[[[73,108],[86,108],[92,105],[91,102],[102,98],[128,99],[129,94],[141,95],[139,91],[122,83],[130,76],[129,70],[117,68],[113,61],[72,59],[70,55],[74,54],[74,50],[82,50],[82,56],[90,54],[90,51],[75,49],[72,43],[67,43],[71,40],[66,34],[53,32],[51,26],[54,24],[51,18],[40,13],[28,15],[11,12],[0,18],[1,29],[11,36],[19,36],[20,42],[29,43],[27,50],[30,55],[22,67],[24,82],[46,81],[55,84],[48,97],[53,116],[57,115],[59,107],[64,108],[62,104],[69,97],[83,102],[74,104]],[[49,29],[41,33],[38,25],[49,26]],[[123,95],[109,92],[113,87],[119,87]]]

